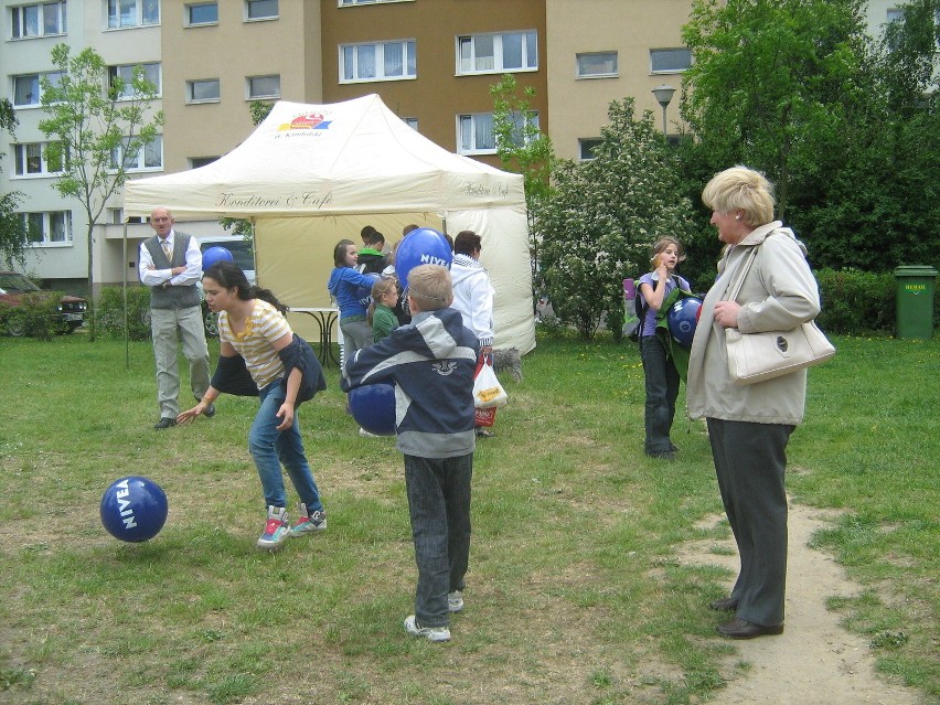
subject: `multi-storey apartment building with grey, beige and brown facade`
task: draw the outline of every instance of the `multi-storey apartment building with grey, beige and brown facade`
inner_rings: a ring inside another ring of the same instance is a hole
[[[87,223],[77,202],[53,189],[39,121],[39,78],[54,73],[51,50],[94,47],[109,73],[142,65],[159,87],[162,135],[132,159],[131,178],[201,167],[252,131],[252,100],[332,103],[371,93],[445,149],[499,165],[490,87],[504,73],[532,87],[531,115],[556,153],[590,158],[611,100],[631,96],[658,125],[679,128],[679,93],[663,115],[653,95],[681,87],[691,57],[681,28],[691,0],[3,0],[0,78],[20,121],[0,189],[41,235],[28,271],[77,290],[87,273]],[[870,3],[876,30],[897,13]],[[53,76],[54,77],[54,76]],[[136,281],[137,244],[124,246],[120,197],[93,239],[98,285]],[[214,222],[184,223],[200,237]]]

